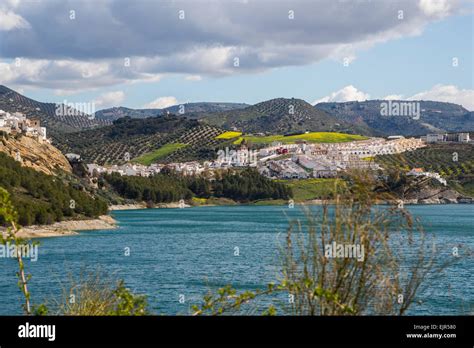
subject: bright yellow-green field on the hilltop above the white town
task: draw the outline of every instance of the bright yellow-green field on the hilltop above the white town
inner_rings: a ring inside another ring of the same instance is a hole
[[[334,133],[334,132],[311,132],[298,135],[268,135],[268,136],[243,136],[239,137],[234,144],[240,144],[242,140],[253,144],[270,144],[274,141],[284,144],[293,144],[298,140],[305,140],[310,143],[344,143],[355,140],[366,140],[367,137],[356,134]]]

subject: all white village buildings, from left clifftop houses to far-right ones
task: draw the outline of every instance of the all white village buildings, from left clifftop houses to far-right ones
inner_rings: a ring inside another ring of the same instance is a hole
[[[39,142],[51,141],[46,137],[46,127],[38,118],[26,118],[20,112],[9,113],[0,110],[0,131],[6,134],[22,134]],[[258,172],[272,179],[335,178],[350,169],[383,169],[375,161],[377,155],[399,154],[425,147],[427,143],[458,142],[470,143],[469,133],[427,134],[420,138],[389,136],[372,137],[341,143],[308,143],[296,141],[294,144],[274,142],[258,150],[241,145],[238,150],[219,150],[217,159],[212,161],[192,161],[184,163],[154,163],[149,166],[128,161],[122,165],[87,164],[89,175],[118,173],[126,176],[149,177],[164,168],[185,176],[201,175],[213,177],[216,170],[254,167]],[[66,154],[68,160],[80,160],[80,155]],[[438,173],[426,172],[422,168],[412,168],[407,175],[425,176],[446,185],[446,180]]]

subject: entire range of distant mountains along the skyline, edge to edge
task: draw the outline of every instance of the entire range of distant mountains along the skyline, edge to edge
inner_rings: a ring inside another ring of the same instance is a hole
[[[56,104],[33,100],[0,85],[0,109],[7,112],[22,112],[28,118],[38,117],[42,125],[47,127],[48,135],[52,137],[53,142],[57,143],[61,142],[59,138],[64,139],[64,134],[101,128],[123,117],[146,119],[168,113],[199,120],[214,127],[256,134],[326,131],[366,136],[419,136],[436,132],[474,130],[474,112],[461,105],[436,101],[390,102],[419,103],[420,119],[408,116],[382,116],[381,103],[389,103],[387,100],[327,102],[313,106],[298,98],[273,98],[254,105],[198,102],[163,109],[131,109],[120,106],[99,110],[95,113],[95,118],[83,113],[58,116],[55,112]],[[184,113],[181,114],[181,111]]]

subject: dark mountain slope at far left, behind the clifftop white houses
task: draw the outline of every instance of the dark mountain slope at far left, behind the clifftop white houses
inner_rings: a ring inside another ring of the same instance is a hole
[[[51,136],[53,139],[58,133],[77,132],[110,123],[91,118],[67,106],[64,107],[66,112],[57,115],[55,103],[42,103],[30,99],[2,85],[0,85],[0,110],[11,113],[21,112],[27,118],[39,118],[41,124],[48,129],[48,137]]]

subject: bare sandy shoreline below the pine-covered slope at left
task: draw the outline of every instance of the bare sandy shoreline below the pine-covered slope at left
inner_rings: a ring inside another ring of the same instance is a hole
[[[17,236],[24,239],[63,237],[79,234],[77,231],[112,230],[117,228],[117,221],[110,215],[97,219],[69,220],[55,222],[51,225],[32,225],[22,227]]]

